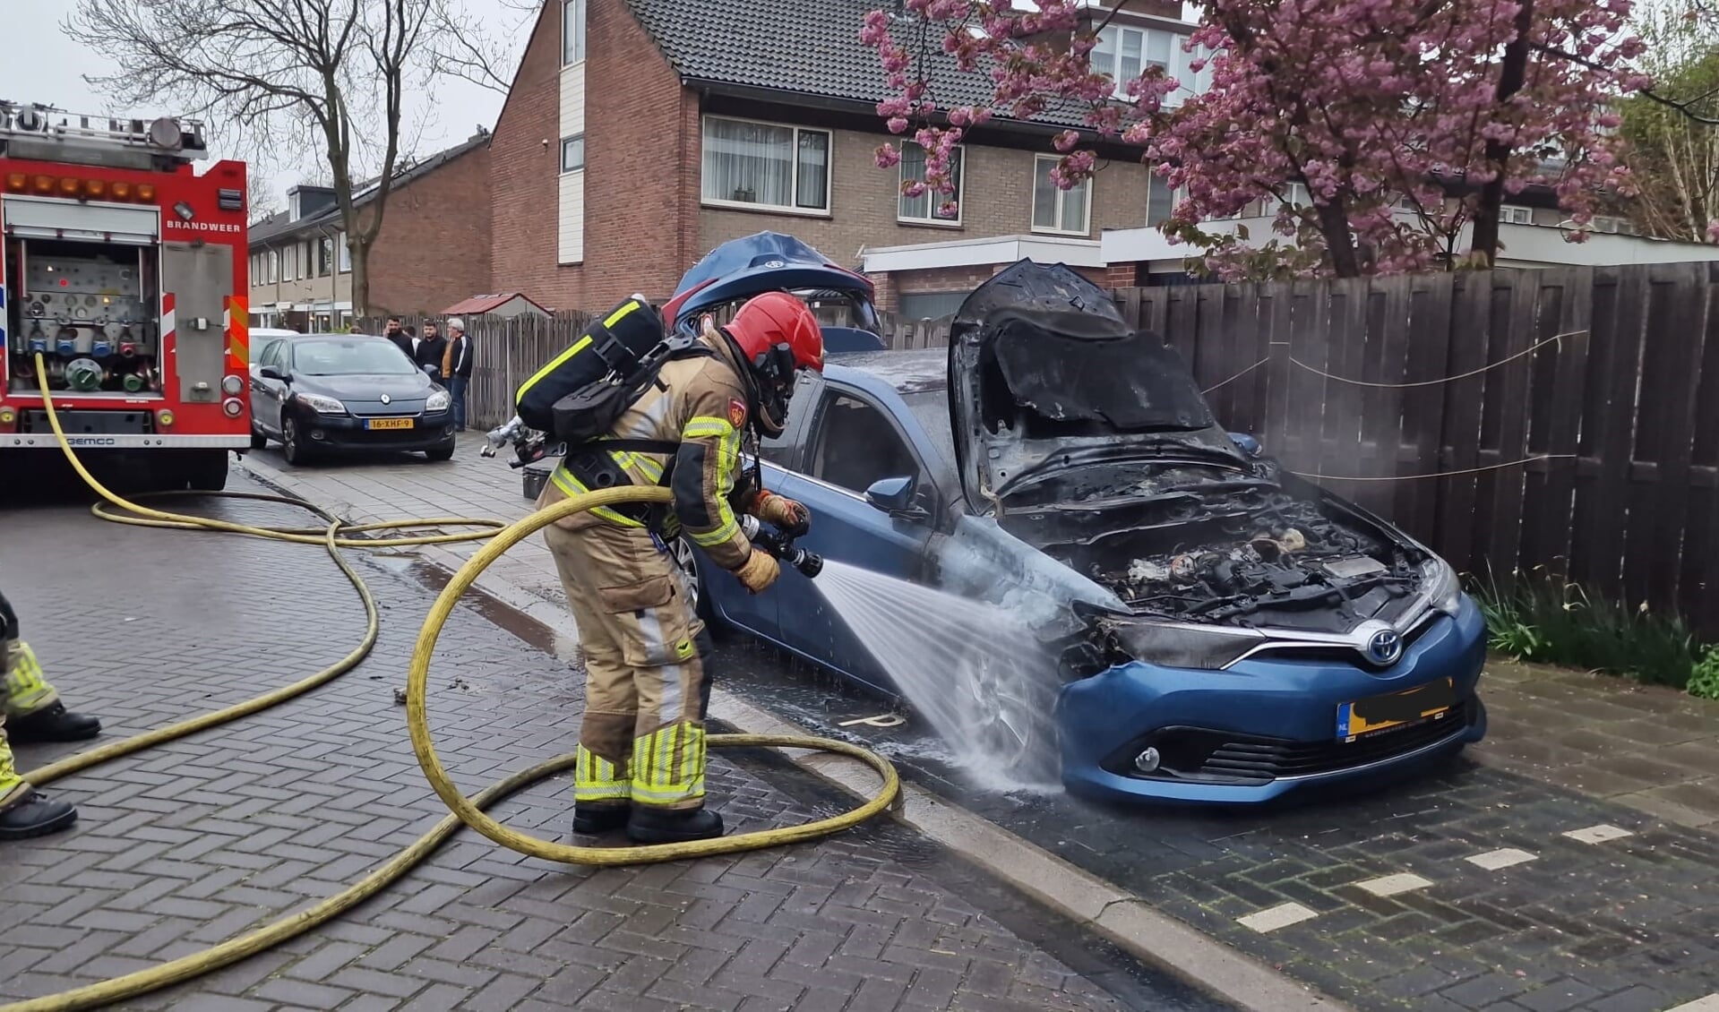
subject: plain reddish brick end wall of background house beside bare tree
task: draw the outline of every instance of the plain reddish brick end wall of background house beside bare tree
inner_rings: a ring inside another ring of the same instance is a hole
[[[490,292],[490,149],[478,144],[388,194],[370,249],[371,313],[440,313]]]

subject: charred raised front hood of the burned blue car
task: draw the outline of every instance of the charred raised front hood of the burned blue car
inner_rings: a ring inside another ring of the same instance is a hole
[[[1245,466],[1181,356],[1064,265],[1023,259],[966,297],[949,333],[949,393],[976,514],[1057,471],[1133,452],[1186,445]]]

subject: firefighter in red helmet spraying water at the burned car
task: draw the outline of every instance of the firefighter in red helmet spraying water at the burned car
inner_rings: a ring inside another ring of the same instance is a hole
[[[710,632],[669,545],[684,536],[756,594],[780,569],[746,540],[736,512],[794,536],[811,521],[804,505],[751,478],[737,483],[737,471],[748,430],[782,433],[796,371],[823,369],[817,318],[799,299],[768,292],[727,326],[703,318],[701,342],[708,354],[667,361],[610,430],[609,438],[677,445],[672,455],[590,443],[569,452],[538,498],[545,507],[617,483],[674,491],[670,509],[596,509],[545,529],[586,665],[576,833],[626,826],[636,844],[722,835],[722,816],[703,808]]]

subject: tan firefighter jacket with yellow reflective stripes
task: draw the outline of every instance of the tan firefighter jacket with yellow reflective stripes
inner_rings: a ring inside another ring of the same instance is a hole
[[[676,357],[664,363],[658,383],[646,388],[621,416],[609,436],[615,440],[662,440],[679,443],[672,455],[633,450],[609,450],[607,455],[633,485],[667,485],[674,491],[672,512],[660,526],[665,536],[682,534],[722,569],[736,570],[751,555],[751,541],[741,533],[734,509],[734,486],[741,469],[741,436],[746,431],[748,399],[739,363],[727,340],[710,325],[703,342],[708,356]],[[600,448],[596,440],[590,448]],[[564,459],[543,485],[538,507],[588,491],[584,481]],[[591,524],[646,527],[638,512],[595,509],[555,521],[567,531]]]

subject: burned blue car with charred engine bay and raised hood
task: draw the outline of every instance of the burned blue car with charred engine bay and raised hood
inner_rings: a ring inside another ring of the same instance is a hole
[[[1073,792],[1263,802],[1485,734],[1485,627],[1451,567],[1224,431],[1064,266],[982,285],[947,351],[832,356],[762,457],[813,510],[806,548],[1028,617],[1038,691],[949,692],[985,699],[999,763],[1057,749]],[[682,555],[713,622],[896,691],[806,577],[751,596]]]

